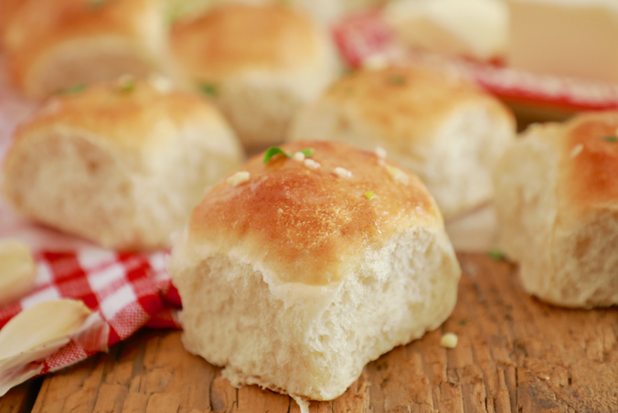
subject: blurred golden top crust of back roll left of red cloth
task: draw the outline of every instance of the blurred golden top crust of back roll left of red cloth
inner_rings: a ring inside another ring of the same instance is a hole
[[[225,5],[173,27],[176,53],[203,81],[250,69],[303,69],[320,58],[316,29],[281,5]]]

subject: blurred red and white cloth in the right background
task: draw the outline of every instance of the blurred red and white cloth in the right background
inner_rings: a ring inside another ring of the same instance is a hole
[[[342,57],[353,68],[378,58],[384,63],[414,64],[458,73],[507,101],[567,111],[618,108],[617,83],[542,75],[508,68],[499,62],[445,57],[407,48],[379,10],[346,16],[333,28],[333,37]]]

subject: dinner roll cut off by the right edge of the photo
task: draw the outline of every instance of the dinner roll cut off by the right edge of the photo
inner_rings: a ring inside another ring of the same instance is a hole
[[[618,304],[617,135],[618,111],[533,125],[498,163],[500,245],[542,300]]]

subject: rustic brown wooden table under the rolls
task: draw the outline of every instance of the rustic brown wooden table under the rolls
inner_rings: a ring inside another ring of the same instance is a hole
[[[579,311],[528,297],[506,261],[460,254],[453,315],[367,365],[312,412],[618,412],[618,309]],[[459,335],[453,350],[443,332]],[[176,331],[143,331],[0,398],[0,413],[298,412],[290,397],[236,389],[186,353]]]

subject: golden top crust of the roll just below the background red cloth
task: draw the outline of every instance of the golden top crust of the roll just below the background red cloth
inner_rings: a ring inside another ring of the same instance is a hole
[[[357,70],[337,81],[323,99],[356,111],[378,128],[390,148],[405,154],[414,152],[411,145],[431,144],[444,118],[466,103],[482,104],[492,116],[515,122],[504,105],[473,83],[428,69]]]

